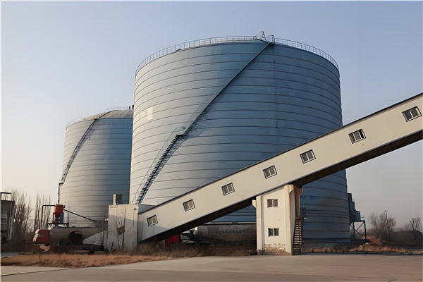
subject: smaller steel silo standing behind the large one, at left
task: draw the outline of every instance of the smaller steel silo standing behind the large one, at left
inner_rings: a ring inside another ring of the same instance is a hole
[[[73,150],[93,118],[66,128],[63,170]],[[65,208],[94,220],[103,220],[113,204],[113,195],[122,194],[128,202],[133,111],[112,111],[94,123],[60,190]],[[87,220],[68,214],[72,225],[83,226]],[[66,219],[66,218],[65,218]]]

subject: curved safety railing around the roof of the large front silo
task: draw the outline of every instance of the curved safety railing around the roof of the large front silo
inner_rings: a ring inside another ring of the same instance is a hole
[[[312,46],[309,46],[307,44],[302,44],[300,42],[295,42],[288,39],[279,39],[275,38],[274,35],[269,35],[269,37],[257,37],[257,36],[232,36],[232,37],[212,37],[207,39],[199,39],[189,42],[184,42],[180,44],[173,45],[171,47],[167,47],[165,49],[161,49],[160,51],[157,51],[154,54],[151,54],[148,56],[144,61],[140,63],[140,66],[138,66],[137,71],[135,71],[135,75],[137,75],[138,71],[141,70],[144,66],[146,66],[148,63],[151,63],[152,61],[161,58],[162,56],[166,56],[168,54],[175,53],[176,51],[180,51],[183,49],[190,49],[194,47],[200,47],[205,45],[212,45],[212,44],[222,44],[222,43],[235,43],[235,42],[247,42],[247,41],[253,41],[253,40],[260,40],[264,42],[274,42],[277,44],[283,44],[287,45],[289,47],[302,49],[305,51],[309,51],[313,54],[317,54],[319,56],[322,56],[324,59],[330,61],[333,63],[333,66],[336,67],[336,69],[339,71],[338,63],[336,63],[335,59],[333,59],[329,54],[327,54],[324,51],[321,51],[320,49],[314,48]]]

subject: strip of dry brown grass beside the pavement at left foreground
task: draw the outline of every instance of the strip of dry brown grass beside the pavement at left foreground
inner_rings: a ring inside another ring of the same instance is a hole
[[[39,254],[4,257],[1,259],[1,266],[91,267],[111,264],[132,264],[134,262],[151,262],[163,259],[171,259],[171,257],[150,257],[142,255]]]

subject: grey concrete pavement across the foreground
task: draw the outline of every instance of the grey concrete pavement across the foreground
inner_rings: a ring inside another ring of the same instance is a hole
[[[47,268],[1,266],[1,281],[422,281],[422,263],[417,255],[193,257],[26,274],[16,269]]]

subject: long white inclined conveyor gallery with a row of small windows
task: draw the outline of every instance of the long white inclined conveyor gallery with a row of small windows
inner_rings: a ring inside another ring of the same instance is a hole
[[[301,188],[324,176],[422,140],[422,105],[423,93],[417,94],[140,212],[137,215],[137,242],[164,240],[247,207],[252,200],[267,192],[287,185]],[[417,154],[415,157],[422,158]],[[292,222],[290,224],[293,226]]]

